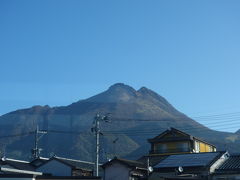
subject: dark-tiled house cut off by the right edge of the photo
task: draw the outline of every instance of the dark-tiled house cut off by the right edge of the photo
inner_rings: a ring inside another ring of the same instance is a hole
[[[216,169],[212,179],[240,179],[240,154],[230,155],[230,157]]]

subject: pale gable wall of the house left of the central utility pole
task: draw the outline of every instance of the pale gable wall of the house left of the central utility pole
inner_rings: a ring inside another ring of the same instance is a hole
[[[48,161],[36,170],[38,172],[50,173],[53,176],[71,176],[72,173],[71,167],[56,160]]]

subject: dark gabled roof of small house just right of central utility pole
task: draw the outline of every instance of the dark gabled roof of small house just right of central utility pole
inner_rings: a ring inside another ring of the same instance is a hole
[[[121,159],[121,158],[117,158],[115,157],[114,159],[112,159],[111,161],[106,162],[105,164],[102,165],[103,168],[115,163],[115,162],[119,162],[125,166],[128,167],[138,167],[138,168],[146,168],[146,164],[140,161],[133,161],[133,160],[127,160],[127,159]]]

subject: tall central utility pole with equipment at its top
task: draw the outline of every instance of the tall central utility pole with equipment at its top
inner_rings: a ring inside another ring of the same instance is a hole
[[[99,137],[100,137],[100,121],[109,122],[108,115],[100,115],[99,113],[96,114],[94,121],[93,121],[93,128],[92,130],[95,132],[96,136],[96,160],[95,160],[95,175],[98,176],[99,174]]]

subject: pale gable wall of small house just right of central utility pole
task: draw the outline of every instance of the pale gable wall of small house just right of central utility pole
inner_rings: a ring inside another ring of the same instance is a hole
[[[104,170],[104,180],[129,180],[130,169],[120,163],[113,163]]]

